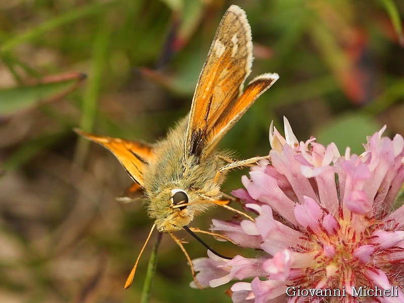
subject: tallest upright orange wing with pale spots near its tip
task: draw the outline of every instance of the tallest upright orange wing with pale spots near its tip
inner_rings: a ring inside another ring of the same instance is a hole
[[[251,29],[245,12],[232,5],[216,31],[192,99],[185,157],[200,158],[218,120],[242,92],[251,71]]]

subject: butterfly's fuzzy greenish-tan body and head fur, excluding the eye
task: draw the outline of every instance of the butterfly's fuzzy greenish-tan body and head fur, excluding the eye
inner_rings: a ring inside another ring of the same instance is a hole
[[[161,232],[174,232],[189,224],[194,216],[208,210],[220,199],[220,185],[226,174],[215,176],[223,167],[230,153],[213,152],[203,161],[184,157],[184,140],[188,118],[169,130],[167,137],[153,146],[156,161],[149,163],[144,171],[144,194],[150,218],[156,220]],[[188,195],[185,209],[172,208],[171,190],[181,189]],[[211,203],[210,203],[210,201]]]

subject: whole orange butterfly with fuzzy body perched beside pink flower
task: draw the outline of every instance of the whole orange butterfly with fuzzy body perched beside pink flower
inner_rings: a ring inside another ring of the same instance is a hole
[[[278,74],[266,73],[243,89],[252,60],[251,29],[246,14],[232,5],[216,31],[190,113],[168,131],[165,139],[146,144],[76,130],[115,155],[135,187],[144,193],[148,216],[155,220],[151,231],[156,227],[159,232],[170,234],[184,252],[173,233],[189,229],[187,225],[193,218],[209,208],[226,205],[220,186],[228,171],[268,158],[237,161],[217,149],[223,136],[279,78]],[[188,256],[187,259],[192,266]],[[132,282],[137,262],[125,288]]]

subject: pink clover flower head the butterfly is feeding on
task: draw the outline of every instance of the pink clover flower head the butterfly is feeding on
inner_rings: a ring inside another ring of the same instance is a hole
[[[298,142],[287,119],[285,138],[271,124],[270,161],[252,167],[245,189],[232,193],[257,213],[254,221],[214,220],[257,259],[213,254],[198,259],[196,278],[215,287],[231,280],[241,302],[404,302],[404,206],[393,203],[404,181],[404,139],[369,136],[361,155],[310,138]],[[251,280],[252,279],[252,280]],[[298,295],[288,289],[336,289],[344,296]],[[391,289],[363,295],[359,289]]]

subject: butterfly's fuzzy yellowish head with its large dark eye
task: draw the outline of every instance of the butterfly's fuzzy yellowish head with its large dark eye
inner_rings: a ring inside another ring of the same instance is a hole
[[[189,193],[183,189],[165,189],[149,204],[149,213],[156,219],[156,227],[161,232],[174,232],[188,225],[194,210],[189,205]]]

